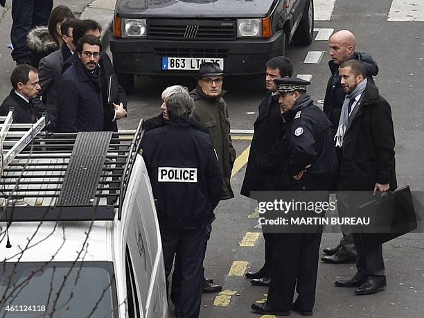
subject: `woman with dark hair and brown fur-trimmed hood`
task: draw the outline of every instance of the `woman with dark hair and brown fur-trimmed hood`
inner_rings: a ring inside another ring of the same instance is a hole
[[[63,43],[60,26],[65,19],[73,18],[67,6],[57,6],[51,11],[48,26],[37,26],[27,36],[28,48],[31,51],[31,65],[38,68],[39,60],[58,50]]]

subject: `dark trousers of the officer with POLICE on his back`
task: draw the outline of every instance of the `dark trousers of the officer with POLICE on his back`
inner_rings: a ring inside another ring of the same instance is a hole
[[[204,229],[168,229],[161,228],[164,248],[166,290],[168,276],[173,267],[173,285],[171,300],[179,308],[182,317],[197,318],[202,300],[202,256],[204,247]]]

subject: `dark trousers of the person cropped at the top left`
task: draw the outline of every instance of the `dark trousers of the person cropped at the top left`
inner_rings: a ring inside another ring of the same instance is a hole
[[[12,0],[12,28],[10,40],[12,41],[12,58],[28,57],[30,49],[26,45],[26,36],[35,26],[46,26],[53,0]]]

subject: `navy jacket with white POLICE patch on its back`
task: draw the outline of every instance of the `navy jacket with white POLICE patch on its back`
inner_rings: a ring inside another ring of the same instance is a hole
[[[196,228],[213,217],[222,172],[209,134],[170,120],[146,132],[141,148],[160,227]]]

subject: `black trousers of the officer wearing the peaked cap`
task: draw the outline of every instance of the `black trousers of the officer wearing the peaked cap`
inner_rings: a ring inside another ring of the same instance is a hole
[[[272,309],[290,310],[295,289],[299,294],[296,301],[299,308],[309,311],[314,307],[321,235],[321,232],[274,234],[267,297]]]

